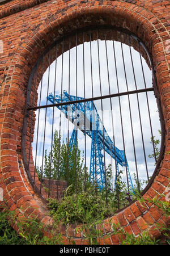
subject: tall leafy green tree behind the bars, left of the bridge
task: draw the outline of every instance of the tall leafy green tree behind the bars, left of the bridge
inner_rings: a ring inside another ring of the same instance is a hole
[[[81,151],[76,145],[70,150],[68,148],[67,141],[61,143],[61,137],[59,138],[57,130],[54,132],[54,142],[52,146],[52,152],[45,150],[45,164],[42,171],[42,177],[48,179],[54,179],[59,181],[67,181],[68,186],[71,186],[72,192],[81,192],[84,190],[85,180],[87,188],[91,186],[89,182],[88,170],[83,165],[84,152],[81,157]],[[41,177],[42,167],[37,167],[37,174]]]

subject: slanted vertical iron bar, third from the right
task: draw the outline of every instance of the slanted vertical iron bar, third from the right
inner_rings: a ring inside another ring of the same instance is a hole
[[[127,89],[127,91],[129,91],[128,79],[127,79],[126,68],[125,68],[124,49],[123,49],[123,46],[122,46],[122,37],[121,37],[121,50],[122,50],[122,60],[123,60],[123,64],[124,64],[124,74],[125,74],[125,81],[126,81],[126,89]],[[130,104],[129,94],[128,94],[128,104],[129,104],[129,114],[130,114],[130,124],[131,124],[131,135],[132,135],[132,140],[133,140],[133,150],[134,150],[134,158],[135,158],[135,168],[136,168],[136,173],[137,173],[138,191],[140,192],[139,177],[138,177],[138,166],[137,166],[137,156],[136,156],[136,150],[135,150],[134,132],[133,132],[133,123],[132,123],[132,116],[131,116],[131,104]]]

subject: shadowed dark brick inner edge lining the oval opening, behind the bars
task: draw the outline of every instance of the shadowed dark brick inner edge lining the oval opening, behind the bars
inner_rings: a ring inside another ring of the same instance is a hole
[[[98,33],[96,31],[96,28],[98,28],[97,30]],[[84,32],[90,31],[90,34],[87,33],[86,36],[84,37],[84,42],[90,42],[90,39],[91,41],[97,40],[97,36],[98,36],[100,40],[104,40],[105,37],[107,38],[107,40],[113,40],[114,38],[114,41],[119,41],[127,45],[130,44],[131,47],[133,47],[136,51],[141,52],[142,56],[145,58],[150,69],[154,71],[154,68],[152,66],[152,60],[149,56],[150,54],[145,49],[146,47],[144,47],[144,44],[142,42],[141,42],[141,45],[139,46],[137,37],[134,34],[132,34],[130,31],[125,30],[123,28],[113,27],[108,25],[85,27],[83,28],[83,31]],[[61,37],[61,39],[57,40],[54,44],[50,45],[48,49],[46,49],[46,51],[41,55],[41,57],[36,62],[36,65],[33,67],[32,73],[28,81],[26,108],[37,106],[37,100],[38,100],[37,89],[40,85],[42,76],[45,73],[45,71],[48,69],[48,66],[52,64],[54,60],[56,60],[56,47],[54,45],[57,45],[57,58],[58,58],[59,56],[61,56],[62,51],[63,52],[69,51],[69,41],[70,41],[70,49],[76,46],[75,35],[77,35],[77,45],[83,44],[82,28],[81,30],[71,31],[71,34],[69,33],[69,35],[66,35],[66,34],[64,35],[65,35],[64,37]],[[65,42],[64,47],[62,47],[63,41]],[[48,51],[50,52],[50,54]],[[154,83],[154,87],[156,87],[155,94],[158,94],[155,73],[154,73],[153,83]],[[158,99],[159,97],[156,96],[156,98]],[[159,101],[158,101],[158,104],[160,105]],[[162,112],[162,109],[160,106],[159,108],[160,108],[160,112]],[[35,118],[36,118],[36,114],[34,111],[33,112],[29,111],[27,114],[25,114],[23,132],[22,132],[22,145],[23,145],[22,154],[23,154],[23,163],[25,166],[25,170],[27,171],[29,181],[32,183],[32,186],[37,192],[37,194],[39,194],[40,197],[42,196],[42,200],[44,200],[46,197],[48,197],[48,194],[45,192],[45,190],[42,189],[41,183],[36,175],[35,163],[33,161],[33,156],[32,156],[32,142],[33,142],[33,136],[35,135],[34,134]],[[163,123],[163,117],[162,117],[162,123]],[[162,127],[162,131],[164,131],[164,127]],[[158,163],[158,166],[159,166],[159,163]],[[148,184],[147,187],[150,187],[150,184],[151,182]],[[48,181],[46,181],[46,186],[48,187]],[[40,193],[41,189],[42,191]]]

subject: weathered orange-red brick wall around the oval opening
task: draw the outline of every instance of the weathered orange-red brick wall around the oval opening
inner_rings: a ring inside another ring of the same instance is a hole
[[[126,28],[143,40],[150,51],[165,122],[165,154],[152,186],[143,196],[167,194],[170,178],[170,3],[148,1],[90,1],[90,0],[13,0],[0,4],[0,186],[5,204],[18,214],[37,215],[45,225],[52,224],[46,216],[45,205],[33,191],[25,173],[22,158],[22,127],[29,75],[46,47],[78,28],[91,25],[113,25]],[[28,141],[29,141],[28,134]],[[27,142],[28,142],[27,141]],[[27,145],[28,146],[28,145]],[[166,192],[167,191],[167,192]],[[160,195],[161,197],[161,195]],[[162,200],[165,200],[162,197]],[[110,223],[120,224],[125,232],[148,230],[160,236],[156,223],[168,225],[168,220],[154,205],[146,202],[131,204],[116,216],[104,221],[104,238],[100,244],[119,244]],[[99,227],[98,227],[99,228]],[[82,232],[61,226],[63,242],[73,237],[76,244],[87,244]]]

